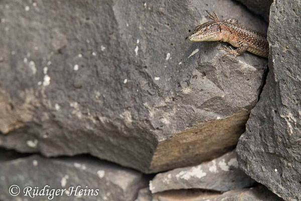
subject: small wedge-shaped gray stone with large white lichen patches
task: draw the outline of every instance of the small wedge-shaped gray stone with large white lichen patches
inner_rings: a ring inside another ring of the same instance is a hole
[[[235,151],[224,154],[198,166],[177,168],[159,173],[150,181],[152,193],[173,190],[201,188],[228,191],[249,187],[254,180],[239,169]]]

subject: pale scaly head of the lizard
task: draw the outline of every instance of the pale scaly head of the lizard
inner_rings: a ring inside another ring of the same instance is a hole
[[[191,41],[219,41],[220,27],[214,21],[206,22],[197,26],[188,38]]]

